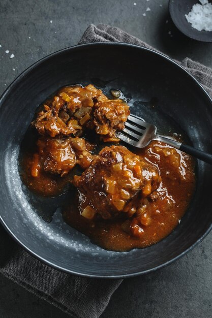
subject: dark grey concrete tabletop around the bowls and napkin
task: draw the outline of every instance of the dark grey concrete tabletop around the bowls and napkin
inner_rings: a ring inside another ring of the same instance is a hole
[[[33,62],[77,44],[90,23],[118,26],[172,58],[189,56],[212,67],[212,43],[181,35],[170,21],[167,0],[1,0],[0,93]],[[211,318],[211,245],[212,233],[169,267],[125,280],[102,318]],[[0,276],[0,317],[69,316]]]

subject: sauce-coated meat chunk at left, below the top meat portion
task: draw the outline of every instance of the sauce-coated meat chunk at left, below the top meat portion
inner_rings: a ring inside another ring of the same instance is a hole
[[[43,169],[52,174],[66,175],[76,165],[76,155],[70,139],[41,137],[38,142],[38,153],[34,155],[32,176],[38,176]]]

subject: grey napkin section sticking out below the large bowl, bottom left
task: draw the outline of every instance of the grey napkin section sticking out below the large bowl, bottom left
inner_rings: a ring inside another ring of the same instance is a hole
[[[16,244],[0,226],[0,273],[74,318],[98,318],[122,280],[57,271]]]

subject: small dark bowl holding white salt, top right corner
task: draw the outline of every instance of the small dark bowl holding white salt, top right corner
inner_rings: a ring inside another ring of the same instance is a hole
[[[199,3],[198,0],[169,0],[172,21],[187,37],[202,42],[212,42],[212,31],[196,30],[185,17],[185,14],[188,14],[196,3]]]

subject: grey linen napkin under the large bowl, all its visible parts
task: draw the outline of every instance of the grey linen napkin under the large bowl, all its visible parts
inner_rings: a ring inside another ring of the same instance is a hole
[[[146,48],[146,43],[105,24],[90,25],[79,44],[126,42]],[[180,63],[212,97],[212,71],[189,58]],[[97,318],[122,280],[89,279],[59,272],[33,258],[0,226],[0,273],[72,317]]]

